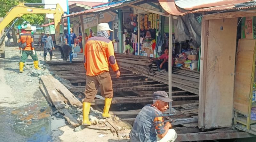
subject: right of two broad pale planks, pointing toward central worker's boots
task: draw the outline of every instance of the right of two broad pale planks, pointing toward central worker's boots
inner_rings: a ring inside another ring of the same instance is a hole
[[[60,94],[67,98],[69,104],[76,105],[80,109],[83,107],[82,102],[79,101],[76,96],[71,93],[64,85],[62,85],[59,80],[57,80],[53,76],[48,76],[48,78],[52,81],[54,87],[60,90]]]

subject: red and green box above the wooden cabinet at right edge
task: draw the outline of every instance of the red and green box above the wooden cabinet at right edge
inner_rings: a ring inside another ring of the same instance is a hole
[[[256,26],[256,17],[243,17],[242,18],[242,36],[241,38],[244,39],[255,39],[256,35],[255,35],[255,30],[254,30],[254,26]]]

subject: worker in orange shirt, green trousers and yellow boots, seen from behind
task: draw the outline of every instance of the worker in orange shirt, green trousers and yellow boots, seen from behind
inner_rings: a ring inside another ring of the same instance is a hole
[[[30,55],[34,61],[34,68],[40,69],[38,67],[38,58],[35,51],[34,46],[34,36],[31,34],[31,27],[28,26],[25,29],[25,33],[20,35],[19,38],[19,49],[21,54],[21,60],[20,60],[20,73],[23,72],[23,66],[26,60],[28,59],[28,55]]]

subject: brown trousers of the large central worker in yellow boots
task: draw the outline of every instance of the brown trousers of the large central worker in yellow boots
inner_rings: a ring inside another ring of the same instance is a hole
[[[101,96],[104,98],[113,98],[112,80],[109,71],[105,71],[96,76],[86,76],[85,98],[84,102],[91,103],[98,92],[100,86]]]

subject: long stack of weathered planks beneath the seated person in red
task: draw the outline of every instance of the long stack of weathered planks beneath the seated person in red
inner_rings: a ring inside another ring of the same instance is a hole
[[[145,56],[115,54],[116,61],[120,68],[137,72],[153,80],[168,83],[168,73],[157,71],[156,64],[149,63],[150,58]],[[199,71],[184,68],[173,68],[172,86],[199,94]]]

